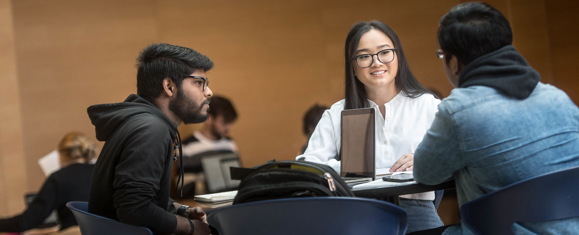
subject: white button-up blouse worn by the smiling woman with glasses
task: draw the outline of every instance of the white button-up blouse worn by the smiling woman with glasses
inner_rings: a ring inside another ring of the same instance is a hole
[[[378,105],[370,102],[376,110],[376,174],[389,172],[390,167],[402,155],[413,153],[426,134],[438,111],[440,100],[431,94],[409,98],[398,93],[384,104],[386,115],[382,116]],[[345,100],[340,100],[324,112],[316,130],[310,137],[303,155],[306,161],[326,164],[340,172],[340,161],[334,159],[340,149],[341,112]],[[434,200],[434,192],[402,196],[410,199]]]

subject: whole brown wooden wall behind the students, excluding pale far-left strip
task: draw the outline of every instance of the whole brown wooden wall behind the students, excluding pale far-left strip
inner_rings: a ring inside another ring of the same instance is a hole
[[[236,105],[240,117],[232,137],[243,164],[254,166],[295,157],[306,140],[301,134],[306,109],[342,98],[343,43],[358,20],[389,24],[420,82],[448,95],[452,87],[434,57],[435,34],[439,19],[459,2],[13,1],[27,187],[38,190],[44,177],[36,161],[56,148],[62,135],[78,130],[94,139],[87,107],[120,102],[135,92],[135,57],[150,43],[188,46],[215,62],[207,74],[211,89]],[[571,60],[573,66],[562,63],[573,58],[567,52],[577,43],[561,35],[565,27],[553,25],[572,21],[574,13],[559,3],[533,2],[536,6],[490,1],[511,20],[515,46],[527,60],[544,79],[553,74],[547,82],[574,84],[564,89],[577,100],[577,82],[570,76],[577,60]],[[564,16],[555,15],[559,12]],[[543,63],[545,54],[551,59]],[[186,137],[196,128],[179,129]]]

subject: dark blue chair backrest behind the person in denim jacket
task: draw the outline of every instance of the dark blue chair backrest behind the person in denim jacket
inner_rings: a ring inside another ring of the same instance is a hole
[[[514,183],[460,208],[474,234],[514,234],[516,222],[541,222],[579,216],[579,167]]]

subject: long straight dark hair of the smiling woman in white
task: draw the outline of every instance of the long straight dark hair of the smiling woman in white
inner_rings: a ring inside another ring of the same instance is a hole
[[[398,56],[398,72],[394,78],[394,85],[396,89],[402,91],[402,95],[410,98],[416,98],[424,93],[430,93],[426,88],[424,88],[415,76],[412,74],[406,57],[404,56],[404,49],[400,44],[400,39],[398,35],[386,24],[378,21],[372,20],[368,22],[360,22],[354,24],[348,33],[346,38],[346,46],[344,48],[344,55],[346,59],[346,82],[344,93],[346,99],[345,109],[358,109],[358,108],[369,108],[370,104],[368,102],[368,96],[366,94],[366,89],[364,84],[356,78],[354,75],[354,67],[352,57],[355,56],[356,49],[358,48],[358,43],[360,38],[366,32],[370,30],[379,30],[386,34],[392,42],[394,43],[394,48],[396,49],[396,56]]]

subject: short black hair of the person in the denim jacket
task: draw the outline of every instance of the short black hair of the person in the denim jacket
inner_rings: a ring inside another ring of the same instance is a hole
[[[486,3],[459,4],[442,17],[439,25],[438,44],[463,65],[512,44],[511,25],[499,10]]]

